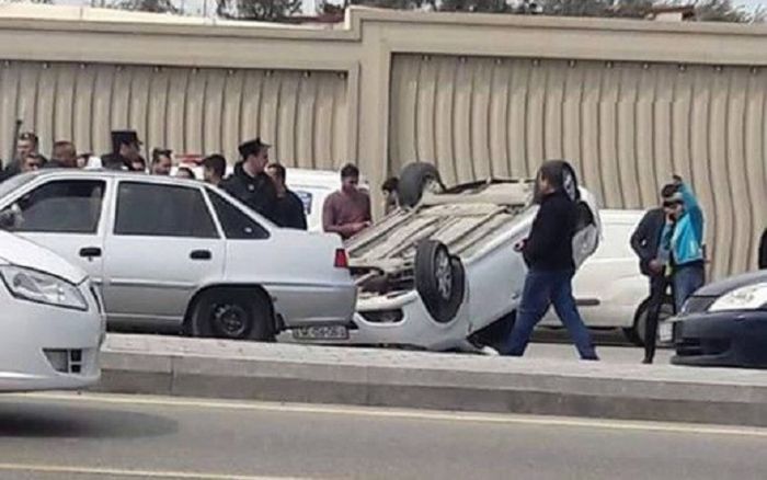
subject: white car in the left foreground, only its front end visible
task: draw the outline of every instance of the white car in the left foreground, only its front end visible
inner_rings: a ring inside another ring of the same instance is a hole
[[[96,382],[105,322],[85,273],[0,231],[0,391]]]

